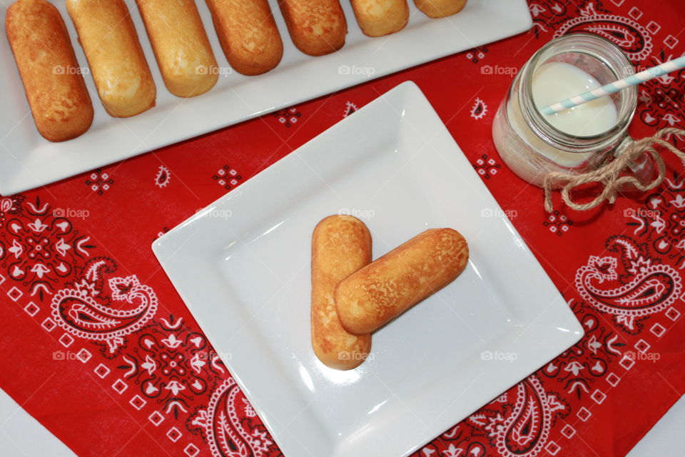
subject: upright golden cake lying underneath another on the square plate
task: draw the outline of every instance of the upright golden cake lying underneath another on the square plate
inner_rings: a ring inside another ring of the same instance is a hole
[[[371,261],[371,235],[352,216],[328,216],[312,235],[312,346],[326,366],[349,370],[371,350],[371,335],[355,336],[340,325],[335,286]]]

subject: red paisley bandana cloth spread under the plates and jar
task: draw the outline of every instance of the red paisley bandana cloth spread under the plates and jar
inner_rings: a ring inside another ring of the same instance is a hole
[[[685,9],[666,0],[529,8],[534,26],[514,38],[0,198],[0,388],[80,456],[280,455],[151,242],[412,80],[585,330],[415,456],[624,455],[685,391],[682,168],[669,161],[659,189],[612,207],[546,214],[541,191],[502,164],[490,127],[515,71],[553,37],[599,34],[636,66],[654,66],[684,52]],[[684,94],[683,70],[642,84],[631,134],[684,128]]]

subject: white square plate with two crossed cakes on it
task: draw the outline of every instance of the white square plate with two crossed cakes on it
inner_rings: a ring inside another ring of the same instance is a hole
[[[310,346],[310,240],[361,216],[377,258],[433,227],[464,273],[335,371]],[[582,327],[412,82],[400,84],[153,243],[287,457],[403,456],[535,371]]]

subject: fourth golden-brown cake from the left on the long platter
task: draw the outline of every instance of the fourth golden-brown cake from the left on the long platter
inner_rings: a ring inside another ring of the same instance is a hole
[[[230,66],[248,76],[274,69],[283,41],[266,0],[207,0],[214,29]]]

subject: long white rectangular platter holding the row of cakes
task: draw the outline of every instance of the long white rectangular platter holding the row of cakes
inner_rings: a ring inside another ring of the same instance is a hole
[[[6,1],[0,6],[3,17],[10,3]],[[52,3],[64,18],[76,59],[84,71],[88,71],[86,56],[78,44],[65,1],[52,0]],[[126,0],[157,86],[157,106],[131,118],[113,118],[104,111],[93,78],[86,74],[95,119],[85,134],[64,143],[51,143],[36,130],[5,39],[5,21],[1,21],[0,194],[14,194],[49,184],[275,109],[497,41],[532,25],[526,0],[469,0],[459,14],[445,19],[428,18],[409,0],[410,21],[405,29],[394,35],[370,38],[357,26],[350,2],[342,0],[348,29],[345,46],[328,56],[310,57],[298,51],[290,41],[278,0],[269,0],[269,3],[283,39],[283,60],[267,74],[243,76],[228,66],[207,5],[204,1],[196,2],[222,73],[216,86],[206,94],[180,99],[166,90],[136,2]]]

